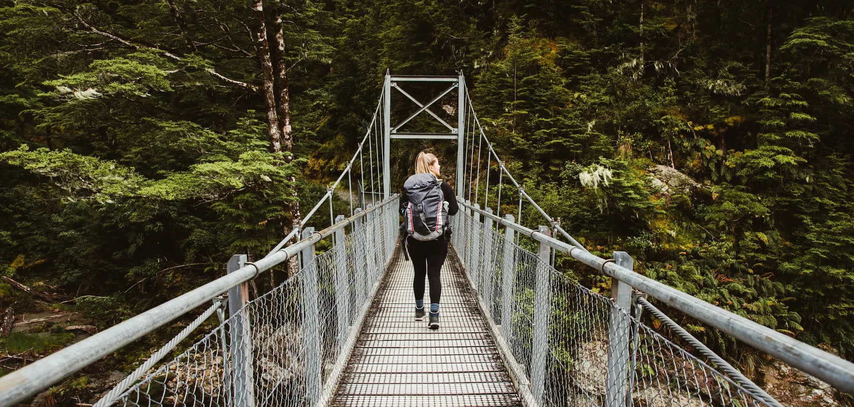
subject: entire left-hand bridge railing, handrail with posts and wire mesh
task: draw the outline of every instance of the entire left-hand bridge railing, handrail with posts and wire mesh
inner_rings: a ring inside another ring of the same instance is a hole
[[[132,386],[98,404],[322,405],[335,390],[370,299],[398,237],[398,197],[368,205],[257,262],[235,256],[228,274],[0,378],[0,405],[11,406],[157,327],[228,292],[229,314],[171,361],[142,372]],[[345,233],[349,228],[350,233]],[[334,238],[330,250],[314,245]],[[301,256],[299,273],[252,301],[248,281]],[[206,313],[206,315],[210,315]]]

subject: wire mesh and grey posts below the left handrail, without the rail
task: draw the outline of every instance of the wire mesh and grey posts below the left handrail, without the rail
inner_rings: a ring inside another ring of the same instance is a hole
[[[336,386],[348,339],[395,251],[396,198],[337,233],[330,250],[302,253],[298,274],[231,314],[189,349],[108,404],[302,406]],[[308,235],[313,230],[306,231]]]

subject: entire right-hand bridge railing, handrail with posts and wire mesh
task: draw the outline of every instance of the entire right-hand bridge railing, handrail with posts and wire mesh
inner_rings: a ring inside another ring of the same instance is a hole
[[[632,316],[632,288],[825,380],[854,389],[854,364],[632,271],[632,259],[595,257],[464,203],[453,247],[477,292],[502,357],[529,405],[771,406],[780,404],[719,357],[717,369]],[[521,233],[538,252],[514,243]],[[611,298],[550,266],[561,251],[612,278]],[[640,309],[635,308],[635,312]],[[722,369],[728,368],[728,369]],[[732,370],[729,370],[732,369]]]

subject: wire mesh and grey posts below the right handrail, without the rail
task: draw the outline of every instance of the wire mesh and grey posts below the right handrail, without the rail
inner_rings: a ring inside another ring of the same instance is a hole
[[[647,327],[628,308],[527,251],[512,229],[471,210],[453,218],[453,248],[506,352],[508,370],[537,405],[777,405]],[[510,217],[512,221],[512,216]],[[541,233],[548,233],[543,228]]]

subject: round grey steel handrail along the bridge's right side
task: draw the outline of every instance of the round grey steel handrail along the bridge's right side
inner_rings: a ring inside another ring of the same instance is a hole
[[[507,221],[486,211],[477,209],[471,204],[460,202],[467,209],[474,210],[479,215],[486,216],[498,222],[499,226],[509,227],[518,233],[524,233],[531,239],[541,242],[572,257],[591,268],[600,270],[608,277],[623,281],[640,292],[646,292],[653,298],[670,305],[688,316],[716,327],[724,333],[734,336],[751,345],[759,351],[768,353],[781,361],[800,369],[809,375],[828,382],[842,392],[854,394],[854,363],[822,351],[815,346],[805,344],[786,334],[765,327],[743,316],[738,316],[716,305],[709,304],[690,294],[681,292],[656,280],[637,274],[628,268],[618,266],[615,262],[606,261],[594,256],[588,251],[582,251],[574,245],[553,239],[518,223]]]

